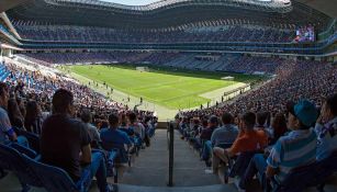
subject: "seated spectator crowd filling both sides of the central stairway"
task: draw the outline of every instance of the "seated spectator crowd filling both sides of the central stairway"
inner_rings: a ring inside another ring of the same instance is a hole
[[[276,60],[276,76],[262,86],[176,116],[181,137],[200,151],[209,171],[224,169],[224,181],[235,178],[239,191],[249,191],[254,178],[265,189],[271,181],[285,182],[291,170],[325,161],[337,149],[336,66]],[[100,191],[113,191],[106,182],[111,158],[130,163],[150,145],[157,125],[153,112],[131,111],[71,79],[18,64],[1,64],[0,78],[0,144],[35,150],[41,162],[63,168],[75,182],[89,173]],[[34,134],[40,144],[23,133]],[[0,174],[7,172],[0,168]]]

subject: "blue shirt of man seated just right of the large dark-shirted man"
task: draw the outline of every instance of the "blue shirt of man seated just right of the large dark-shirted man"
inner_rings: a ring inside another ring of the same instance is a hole
[[[103,148],[111,150],[109,146],[111,145],[132,145],[127,134],[125,132],[113,129],[113,128],[103,128],[101,131],[101,140],[103,144]],[[105,147],[104,147],[105,146]],[[106,148],[108,146],[108,148]]]

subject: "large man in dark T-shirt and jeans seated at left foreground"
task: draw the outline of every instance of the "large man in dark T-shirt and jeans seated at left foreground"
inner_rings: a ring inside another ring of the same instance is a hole
[[[86,124],[72,117],[75,106],[70,91],[59,89],[55,92],[53,112],[43,123],[42,162],[64,169],[75,183],[80,181],[85,169],[89,170],[91,178],[96,176],[101,192],[113,191],[106,182],[104,155],[91,154],[91,140]]]

